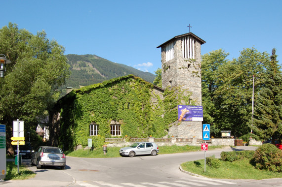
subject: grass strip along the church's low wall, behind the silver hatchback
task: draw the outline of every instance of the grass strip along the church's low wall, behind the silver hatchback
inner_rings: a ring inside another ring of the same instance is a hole
[[[209,146],[208,149],[222,148],[223,146]],[[108,147],[107,153],[104,155],[103,148],[97,148],[93,151],[90,150],[77,150],[77,151],[66,151],[67,156],[74,157],[88,157],[88,158],[108,158],[108,157],[121,157],[119,150],[120,147]],[[201,151],[201,146],[159,146],[159,154],[172,154],[172,153],[185,153],[192,151]]]

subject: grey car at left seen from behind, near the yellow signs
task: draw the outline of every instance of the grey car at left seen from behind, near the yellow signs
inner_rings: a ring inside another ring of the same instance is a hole
[[[65,169],[66,156],[61,148],[40,146],[36,151],[32,151],[31,163],[36,165],[37,169],[42,166],[59,166]]]

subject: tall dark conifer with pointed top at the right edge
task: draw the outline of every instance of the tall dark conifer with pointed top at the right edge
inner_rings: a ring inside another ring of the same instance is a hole
[[[258,93],[254,116],[254,133],[262,138],[282,139],[282,71],[272,50],[270,64]]]

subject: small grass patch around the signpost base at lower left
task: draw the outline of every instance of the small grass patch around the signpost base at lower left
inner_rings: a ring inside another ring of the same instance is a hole
[[[29,170],[25,165],[20,165],[19,173],[18,166],[15,162],[6,162],[6,178],[5,180],[25,180],[35,177],[35,173]]]

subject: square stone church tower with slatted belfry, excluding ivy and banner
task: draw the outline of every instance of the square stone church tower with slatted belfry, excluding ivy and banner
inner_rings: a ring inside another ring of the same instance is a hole
[[[162,88],[179,86],[192,93],[190,98],[196,101],[196,105],[201,105],[201,44],[204,43],[204,40],[189,32],[157,47],[161,47]],[[202,138],[201,122],[182,121],[180,125],[176,122],[169,128],[169,135]]]

